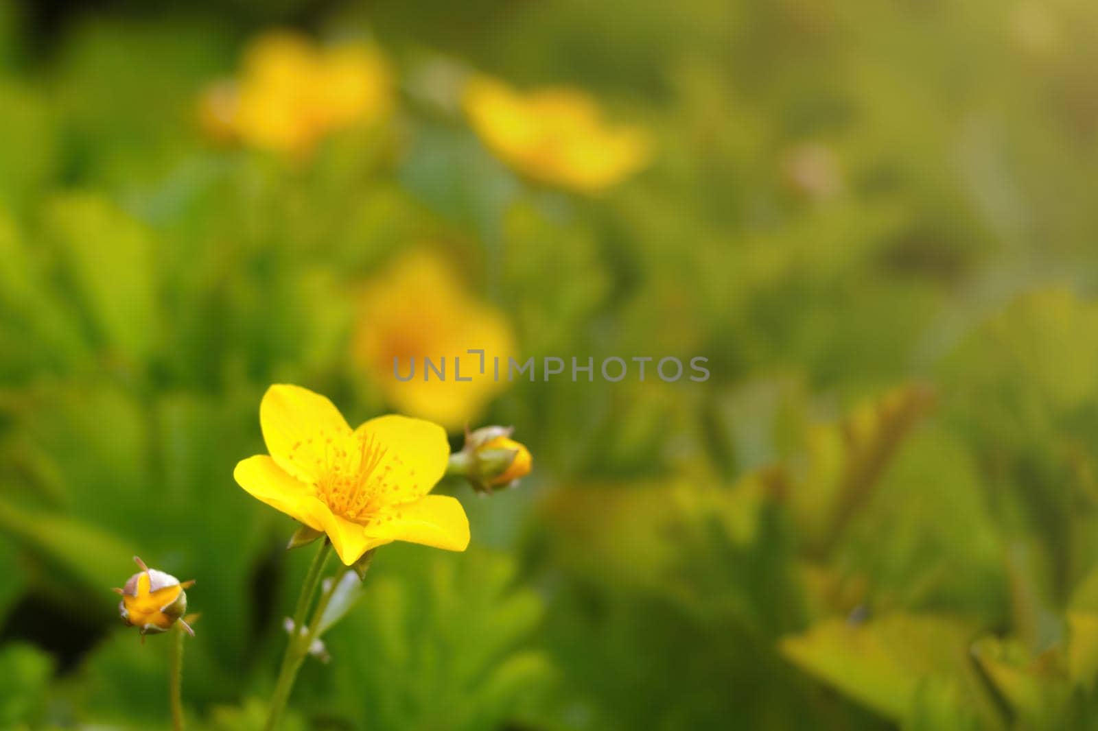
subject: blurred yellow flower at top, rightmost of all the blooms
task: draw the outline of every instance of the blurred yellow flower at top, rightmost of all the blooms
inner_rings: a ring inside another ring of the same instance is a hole
[[[594,99],[563,87],[520,94],[486,78],[469,82],[466,113],[485,144],[534,180],[596,193],[643,168],[648,135],[607,126]]]

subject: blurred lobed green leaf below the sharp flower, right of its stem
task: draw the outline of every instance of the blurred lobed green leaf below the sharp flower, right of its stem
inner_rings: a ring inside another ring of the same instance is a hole
[[[545,688],[548,661],[527,645],[541,603],[514,576],[505,555],[386,547],[327,640],[354,726],[498,728]]]

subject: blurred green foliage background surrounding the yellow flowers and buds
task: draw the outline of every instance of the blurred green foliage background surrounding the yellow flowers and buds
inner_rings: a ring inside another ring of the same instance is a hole
[[[472,544],[379,551],[293,729],[1098,728],[1098,8],[1087,0],[0,2],[0,729],[258,728],[309,560],[250,498],[272,382],[392,408],[355,292],[413,247],[523,357],[534,453]],[[369,38],[393,111],[307,155],[199,100],[270,29]],[[650,137],[531,181],[469,69]],[[456,446],[460,437],[456,434]]]

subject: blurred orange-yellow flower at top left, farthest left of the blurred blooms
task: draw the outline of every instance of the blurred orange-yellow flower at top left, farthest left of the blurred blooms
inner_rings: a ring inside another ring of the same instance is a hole
[[[389,66],[376,48],[321,48],[271,33],[249,46],[238,79],[206,90],[199,113],[216,139],[303,153],[333,131],[384,119],[392,104]]]

